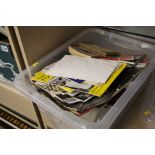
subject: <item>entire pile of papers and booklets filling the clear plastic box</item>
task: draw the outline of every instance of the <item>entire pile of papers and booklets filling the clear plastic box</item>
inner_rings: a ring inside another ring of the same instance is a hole
[[[145,55],[121,55],[79,43],[69,46],[67,55],[35,73],[31,81],[40,93],[80,116],[114,104],[147,63]]]

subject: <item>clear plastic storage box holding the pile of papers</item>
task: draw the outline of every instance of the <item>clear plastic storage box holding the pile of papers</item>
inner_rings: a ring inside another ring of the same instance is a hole
[[[63,57],[68,46],[77,42],[98,44],[120,53],[146,54],[150,63],[131,82],[127,90],[113,106],[102,106],[87,113],[85,116],[76,116],[71,112],[64,111],[49,98],[39,94],[31,84],[27,71],[23,71],[16,77],[15,85],[46,113],[53,128],[112,128],[149,81],[149,77],[155,69],[155,47],[105,30],[90,28],[51,51],[50,54],[37,62],[38,65],[31,66],[32,75],[46,65],[59,60]]]

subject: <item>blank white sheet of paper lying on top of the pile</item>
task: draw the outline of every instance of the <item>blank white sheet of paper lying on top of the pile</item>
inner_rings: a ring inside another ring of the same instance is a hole
[[[105,83],[118,61],[66,55],[47,71],[48,75]]]

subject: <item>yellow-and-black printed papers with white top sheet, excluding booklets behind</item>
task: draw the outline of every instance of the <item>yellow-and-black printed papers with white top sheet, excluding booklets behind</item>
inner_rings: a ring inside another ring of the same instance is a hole
[[[116,61],[66,55],[37,72],[31,80],[61,101],[65,109],[79,115],[94,107],[92,104],[83,109],[87,101],[101,97],[126,66]]]

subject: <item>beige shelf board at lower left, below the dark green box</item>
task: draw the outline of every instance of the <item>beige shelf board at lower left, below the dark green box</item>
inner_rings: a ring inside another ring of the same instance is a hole
[[[32,102],[13,85],[0,81],[0,103],[38,123]]]

